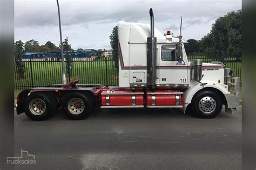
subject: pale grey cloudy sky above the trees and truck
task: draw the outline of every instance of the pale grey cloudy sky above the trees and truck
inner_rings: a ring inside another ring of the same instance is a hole
[[[109,49],[109,36],[118,21],[150,23],[150,8],[155,26],[163,34],[171,30],[178,35],[183,16],[183,38],[201,39],[215,19],[241,9],[241,0],[59,0],[59,5],[62,36],[69,38],[73,49]],[[30,39],[40,45],[48,40],[59,44],[56,0],[15,0],[15,41]]]

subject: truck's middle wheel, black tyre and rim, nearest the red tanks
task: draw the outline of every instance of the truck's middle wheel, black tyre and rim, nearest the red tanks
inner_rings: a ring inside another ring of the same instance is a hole
[[[66,96],[63,109],[66,116],[72,120],[82,120],[89,117],[92,111],[92,99],[84,93],[70,93]]]

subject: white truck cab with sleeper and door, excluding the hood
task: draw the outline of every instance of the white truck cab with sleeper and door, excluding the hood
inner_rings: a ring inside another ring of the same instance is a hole
[[[188,84],[189,63],[183,47],[183,62],[177,60],[179,38],[160,33],[157,37],[156,84],[172,86]],[[150,25],[142,23],[118,23],[119,36],[119,87],[145,87],[147,84],[147,37]],[[183,43],[186,42],[183,40]],[[179,76],[178,76],[179,75]]]

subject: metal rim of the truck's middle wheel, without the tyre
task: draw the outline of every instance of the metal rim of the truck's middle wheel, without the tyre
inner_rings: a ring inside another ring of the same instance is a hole
[[[68,103],[71,114],[79,115],[84,111],[84,102],[80,98],[72,98]]]

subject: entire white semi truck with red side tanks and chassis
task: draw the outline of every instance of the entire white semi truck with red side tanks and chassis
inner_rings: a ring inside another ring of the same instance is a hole
[[[119,86],[53,84],[21,91],[17,114],[41,121],[62,107],[71,119],[84,119],[93,108],[188,107],[200,118],[214,118],[223,105],[228,114],[239,108],[239,77],[223,63],[189,62],[184,39],[165,35],[151,24],[118,23]],[[232,81],[234,80],[234,81]]]

